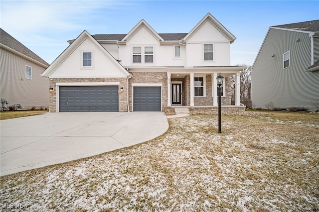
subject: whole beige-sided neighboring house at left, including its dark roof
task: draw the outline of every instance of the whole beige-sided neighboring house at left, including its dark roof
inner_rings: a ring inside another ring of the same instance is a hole
[[[49,64],[3,29],[0,33],[0,98],[7,106],[48,107],[49,81],[41,73]]]

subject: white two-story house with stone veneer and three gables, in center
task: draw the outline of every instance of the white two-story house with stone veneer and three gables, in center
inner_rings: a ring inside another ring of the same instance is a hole
[[[45,70],[50,111],[168,111],[214,108],[216,77],[224,78],[222,105],[244,110],[240,86],[231,106],[230,77],[240,83],[245,67],[230,66],[235,37],[211,14],[189,33],[157,33],[141,20],[128,34],[83,31]],[[225,109],[225,108],[224,108]]]

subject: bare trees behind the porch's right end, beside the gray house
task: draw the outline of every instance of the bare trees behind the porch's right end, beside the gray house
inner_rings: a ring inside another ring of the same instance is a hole
[[[252,66],[247,64],[237,64],[236,66],[247,67],[244,71],[240,73],[240,101],[251,101],[251,69]],[[235,101],[235,93],[236,93],[236,82],[235,76],[231,76],[231,98],[232,102]]]

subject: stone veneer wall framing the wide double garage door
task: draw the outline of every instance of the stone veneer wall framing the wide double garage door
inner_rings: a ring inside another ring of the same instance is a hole
[[[96,83],[96,82],[119,82],[119,112],[127,112],[127,94],[126,94],[126,78],[56,78],[50,79],[50,85],[54,88],[54,92],[49,94],[49,111],[56,112],[56,83]],[[120,88],[123,86],[124,92],[120,92]]]

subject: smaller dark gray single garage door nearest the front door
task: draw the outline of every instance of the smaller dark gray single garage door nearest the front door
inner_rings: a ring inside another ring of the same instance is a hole
[[[134,111],[160,111],[160,87],[134,87]]]

